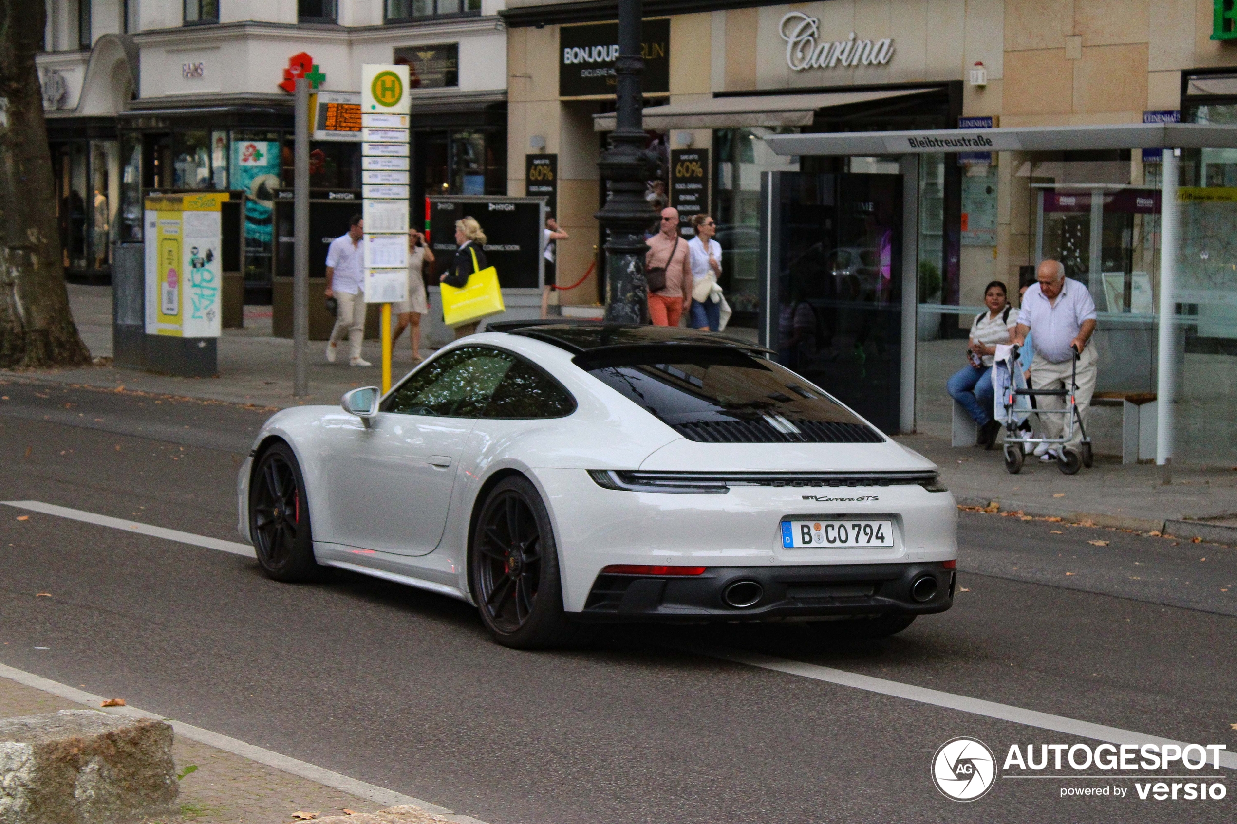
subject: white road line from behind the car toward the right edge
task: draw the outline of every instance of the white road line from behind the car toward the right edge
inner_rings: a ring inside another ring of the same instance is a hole
[[[788,658],[776,658],[760,652],[747,652],[742,650],[695,651],[715,658],[722,658],[725,661],[746,663],[751,667],[773,670],[776,672],[784,672],[787,675],[800,676],[803,678],[813,678],[815,681],[826,681],[841,687],[854,687],[855,689],[881,693],[882,696],[892,696],[894,698],[904,698],[907,700],[918,700],[924,704],[933,704],[934,707],[945,707],[946,709],[974,713],[975,715],[985,715],[1002,721],[1013,721],[1014,724],[1037,726],[1043,730],[1053,730],[1054,733],[1076,735],[1079,738],[1094,739],[1096,741],[1107,741],[1110,744],[1118,745],[1159,744],[1163,746],[1164,744],[1176,744],[1178,746],[1185,746],[1184,741],[1176,741],[1174,739],[1159,738],[1157,735],[1144,735],[1143,733],[1123,730],[1117,726],[1105,726],[1103,724],[1080,721],[1074,718],[1051,715],[1034,709],[1022,709],[1021,707],[1011,707],[1009,704],[998,704],[981,698],[955,696],[954,693],[941,692],[939,689],[915,687],[914,684],[904,684],[898,681],[887,681],[884,678],[873,678],[872,676],[862,676],[855,672],[846,672],[845,670],[834,670],[833,667],[821,667],[815,663],[804,663],[802,661],[790,661]],[[1200,741],[1200,744],[1202,744],[1202,741]],[[1220,766],[1228,767],[1230,770],[1237,770],[1237,752],[1227,750],[1221,751]]]

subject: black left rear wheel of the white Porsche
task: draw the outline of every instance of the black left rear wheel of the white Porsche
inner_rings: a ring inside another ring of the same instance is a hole
[[[558,547],[537,488],[523,476],[499,482],[473,534],[469,576],[481,621],[518,650],[579,641],[584,628],[563,612]]]

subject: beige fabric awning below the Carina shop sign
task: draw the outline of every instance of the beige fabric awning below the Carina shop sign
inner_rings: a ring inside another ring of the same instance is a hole
[[[751,126],[810,126],[818,109],[901,98],[933,89],[884,89],[833,94],[768,94],[711,98],[690,103],[649,106],[643,111],[644,128],[743,128]],[[593,115],[593,128],[615,128],[615,114]]]

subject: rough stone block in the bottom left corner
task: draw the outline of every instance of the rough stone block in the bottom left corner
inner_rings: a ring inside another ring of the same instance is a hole
[[[0,720],[0,824],[176,815],[172,726],[90,709]]]

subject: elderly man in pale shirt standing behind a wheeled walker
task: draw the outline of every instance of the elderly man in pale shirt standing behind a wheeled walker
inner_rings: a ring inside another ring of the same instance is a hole
[[[1033,336],[1035,357],[1030,362],[1030,383],[1035,389],[1068,388],[1074,368],[1074,353],[1081,353],[1076,377],[1079,388],[1074,393],[1074,399],[1077,403],[1079,416],[1085,424],[1091,395],[1095,394],[1098,359],[1095,346],[1087,346],[1095,332],[1095,301],[1085,284],[1065,277],[1065,267],[1060,261],[1040,263],[1035,280],[1035,285],[1027,289],[1027,294],[1023,295],[1014,342],[1022,346],[1028,332]],[[1064,406],[1064,398],[1039,397],[1042,410]],[[1040,420],[1047,437],[1061,437],[1065,426],[1064,415],[1040,415]],[[1081,440],[1082,432],[1075,426],[1074,436],[1064,446],[1077,448]],[[1060,448],[1048,450],[1040,460],[1059,458]]]

